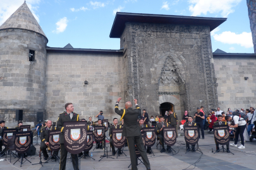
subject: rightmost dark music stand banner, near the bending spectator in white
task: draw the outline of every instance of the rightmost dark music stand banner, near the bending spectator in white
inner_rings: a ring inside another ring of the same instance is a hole
[[[214,139],[219,145],[228,145],[230,140],[228,125],[214,126]]]

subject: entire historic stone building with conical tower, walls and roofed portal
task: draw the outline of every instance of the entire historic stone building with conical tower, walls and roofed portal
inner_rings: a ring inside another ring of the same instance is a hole
[[[226,18],[117,13],[110,33],[119,50],[47,47],[26,3],[0,26],[0,120],[15,126],[15,110],[34,125],[36,113],[56,122],[71,102],[80,118],[116,99],[137,98],[149,115],[198,106],[222,110],[255,106],[255,54],[212,53],[210,31]]]

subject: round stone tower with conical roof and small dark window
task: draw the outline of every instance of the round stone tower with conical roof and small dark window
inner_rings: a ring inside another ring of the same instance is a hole
[[[15,110],[23,110],[32,123],[45,113],[47,42],[26,3],[0,26],[0,120],[14,123]]]

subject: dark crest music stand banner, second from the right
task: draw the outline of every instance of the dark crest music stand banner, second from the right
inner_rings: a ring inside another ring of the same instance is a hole
[[[188,126],[183,127],[184,128],[184,136],[185,136],[185,142],[190,145],[195,145],[198,143],[199,135],[198,135],[198,127],[197,126]]]

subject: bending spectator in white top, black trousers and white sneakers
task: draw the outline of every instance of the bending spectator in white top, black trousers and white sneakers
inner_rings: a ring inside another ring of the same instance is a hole
[[[247,126],[247,122],[243,118],[240,118],[240,116],[226,116],[225,118],[227,121],[229,121],[228,125],[231,128],[236,128],[235,133],[235,143],[230,144],[231,146],[237,147],[238,143],[238,136],[241,138],[241,145],[238,147],[238,149],[245,149],[245,139],[243,138],[243,132],[245,131],[245,127]],[[231,121],[234,121],[235,125],[231,125]]]

